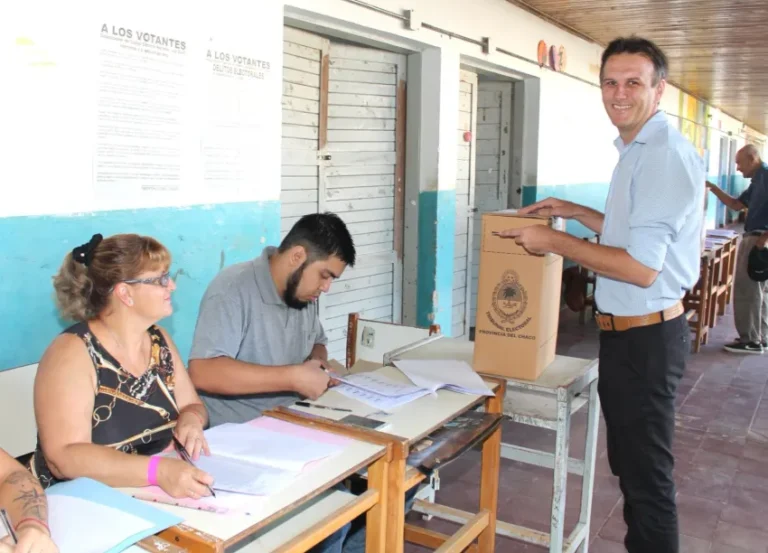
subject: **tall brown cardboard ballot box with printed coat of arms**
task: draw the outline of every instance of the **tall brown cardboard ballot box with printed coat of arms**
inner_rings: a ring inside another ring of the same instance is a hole
[[[478,372],[535,380],[555,359],[563,258],[533,255],[514,238],[494,235],[529,225],[563,228],[561,219],[516,210],[483,214],[473,360]]]

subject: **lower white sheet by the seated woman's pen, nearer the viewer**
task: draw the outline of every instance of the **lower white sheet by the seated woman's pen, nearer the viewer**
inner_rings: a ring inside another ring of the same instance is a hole
[[[218,455],[201,455],[197,468],[213,476],[213,488],[248,495],[272,495],[290,486],[299,473],[256,466]]]

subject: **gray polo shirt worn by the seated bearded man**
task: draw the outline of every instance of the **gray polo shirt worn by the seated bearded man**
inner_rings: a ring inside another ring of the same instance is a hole
[[[269,256],[275,251],[267,247],[261,257],[227,267],[211,281],[200,303],[190,359],[231,357],[258,365],[296,365],[315,344],[327,344],[317,303],[293,309],[278,295],[269,272]],[[211,426],[249,421],[298,398],[292,392],[200,397]]]

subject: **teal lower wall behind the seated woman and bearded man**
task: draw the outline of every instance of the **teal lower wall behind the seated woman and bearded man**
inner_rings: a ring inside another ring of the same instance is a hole
[[[280,240],[280,203],[256,202],[0,219],[0,370],[36,363],[70,322],[59,319],[52,277],[64,255],[94,233],[139,233],[173,256],[174,313],[160,321],[186,362],[198,306],[225,265]]]

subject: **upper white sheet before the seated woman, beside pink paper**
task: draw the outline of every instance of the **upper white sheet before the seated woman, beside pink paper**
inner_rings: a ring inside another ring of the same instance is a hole
[[[222,424],[206,430],[211,454],[255,465],[301,472],[312,461],[336,455],[341,446],[265,430],[249,424]]]

